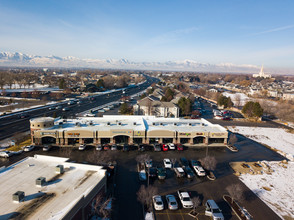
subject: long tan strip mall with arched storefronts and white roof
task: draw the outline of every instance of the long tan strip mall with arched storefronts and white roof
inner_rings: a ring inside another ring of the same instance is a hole
[[[30,120],[32,143],[56,144],[153,144],[181,143],[193,146],[225,146],[228,132],[205,119],[158,118],[154,116],[105,115]]]

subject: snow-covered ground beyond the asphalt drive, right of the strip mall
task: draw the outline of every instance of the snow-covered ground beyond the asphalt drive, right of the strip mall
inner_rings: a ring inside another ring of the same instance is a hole
[[[266,144],[284,157],[294,161],[294,134],[283,128],[228,127],[232,132],[242,134],[261,144]]]

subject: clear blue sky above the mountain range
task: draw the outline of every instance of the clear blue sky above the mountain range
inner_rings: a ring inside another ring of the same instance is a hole
[[[294,1],[1,0],[0,51],[294,68]]]

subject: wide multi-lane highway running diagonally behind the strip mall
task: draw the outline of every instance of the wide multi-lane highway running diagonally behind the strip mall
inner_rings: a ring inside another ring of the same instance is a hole
[[[60,109],[50,110],[50,106],[44,106],[42,108],[37,108],[31,110],[27,114],[29,117],[27,118],[19,118],[19,114],[12,114],[11,116],[7,115],[5,117],[0,118],[0,140],[12,137],[18,133],[29,131],[31,118],[46,116],[53,116],[54,112],[56,112],[56,116],[59,117],[75,117],[76,114],[80,112],[84,112],[90,110],[92,108],[96,108],[101,105],[105,105],[110,102],[119,101],[122,96],[131,96],[141,91],[144,91],[148,88],[152,83],[158,82],[158,79],[146,76],[146,82],[141,85],[128,87],[122,91],[115,91],[108,94],[102,94],[92,98],[80,98],[79,100],[82,102],[81,104],[73,104],[68,105],[67,103],[59,104],[62,108],[68,107],[69,111],[62,111]],[[124,92],[123,92],[124,91]]]

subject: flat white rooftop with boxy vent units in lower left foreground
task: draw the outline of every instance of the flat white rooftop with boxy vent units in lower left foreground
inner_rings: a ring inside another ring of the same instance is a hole
[[[67,160],[35,155],[0,169],[0,219],[9,219],[14,213],[29,219],[60,219],[105,177],[101,166]],[[57,165],[65,168],[59,176],[55,172]],[[39,177],[52,181],[38,187],[35,181]],[[23,202],[13,202],[12,195],[17,191],[25,193]],[[32,204],[38,202],[40,206],[36,209]]]

